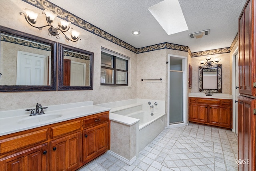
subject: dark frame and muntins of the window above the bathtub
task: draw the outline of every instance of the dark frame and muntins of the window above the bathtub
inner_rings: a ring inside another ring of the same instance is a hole
[[[106,52],[104,52],[106,53]],[[107,53],[108,54],[108,53]],[[109,54],[109,55],[112,55],[112,54]],[[113,70],[114,71],[114,75],[113,75],[113,80],[114,80],[114,83],[113,84],[106,84],[106,83],[100,83],[100,85],[110,85],[110,86],[128,86],[128,60],[126,59],[123,59],[123,58],[120,58],[118,56],[113,56],[113,68],[111,67],[106,67],[106,66],[101,66],[100,65],[100,68],[104,68],[104,69],[108,69],[108,70]],[[117,69],[116,68],[116,58],[119,58],[121,60],[125,60],[126,61],[126,70],[120,70],[120,69]],[[116,84],[116,79],[117,79],[117,71],[120,71],[120,72],[126,72],[126,84]]]

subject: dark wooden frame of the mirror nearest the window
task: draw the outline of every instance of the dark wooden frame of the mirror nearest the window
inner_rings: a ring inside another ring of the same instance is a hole
[[[90,56],[90,85],[63,85],[64,49]],[[58,91],[59,90],[92,90],[93,89],[93,52],[58,43]]]

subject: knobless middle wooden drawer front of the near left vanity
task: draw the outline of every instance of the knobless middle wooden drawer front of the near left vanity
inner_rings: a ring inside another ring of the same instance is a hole
[[[81,121],[73,121],[70,123],[58,125],[55,127],[51,127],[51,137],[57,137],[59,135],[64,135],[66,133],[70,133],[76,130],[80,130],[81,128]]]

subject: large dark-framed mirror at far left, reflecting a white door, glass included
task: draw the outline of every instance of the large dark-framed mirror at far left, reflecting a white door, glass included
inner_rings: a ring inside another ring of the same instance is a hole
[[[56,42],[3,26],[0,38],[0,91],[56,90]]]

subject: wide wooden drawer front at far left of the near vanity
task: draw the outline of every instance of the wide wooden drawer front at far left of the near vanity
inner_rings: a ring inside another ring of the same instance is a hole
[[[3,139],[0,141],[0,153],[10,152],[23,147],[28,147],[36,143],[40,143],[47,140],[47,130],[42,129],[23,135],[18,135]]]

